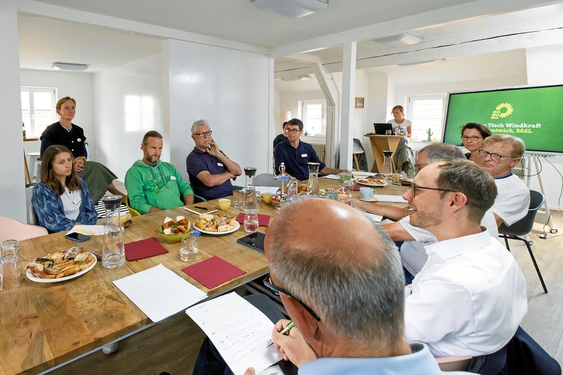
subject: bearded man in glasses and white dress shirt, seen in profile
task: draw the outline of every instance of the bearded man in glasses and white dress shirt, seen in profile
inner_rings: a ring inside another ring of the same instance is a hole
[[[434,234],[428,260],[406,297],[409,341],[434,356],[494,353],[528,310],[526,282],[512,254],[480,222],[497,195],[493,178],[468,160],[427,165],[403,198],[410,224]]]

